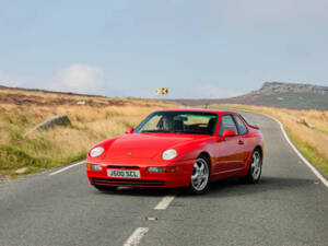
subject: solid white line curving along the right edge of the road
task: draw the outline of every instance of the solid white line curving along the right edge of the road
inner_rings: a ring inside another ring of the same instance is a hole
[[[243,109],[238,109],[238,110],[243,110]],[[249,112],[249,113],[256,113],[256,114],[260,114],[263,115],[266,117],[269,117],[271,119],[273,119],[276,122],[278,122],[278,125],[280,126],[280,129],[282,131],[283,137],[285,138],[285,140],[288,141],[288,143],[290,144],[290,147],[293,149],[293,151],[298,155],[298,157],[303,161],[303,163],[305,165],[307,165],[307,167],[323,181],[323,184],[328,188],[328,180],[314,167],[314,164],[312,164],[311,162],[308,162],[304,155],[298,151],[298,149],[294,145],[294,143],[291,141],[290,137],[288,136],[282,122],[280,122],[279,119],[274,118],[273,116],[263,114],[263,113],[258,113],[258,112],[250,112],[250,110],[243,110],[243,112]]]

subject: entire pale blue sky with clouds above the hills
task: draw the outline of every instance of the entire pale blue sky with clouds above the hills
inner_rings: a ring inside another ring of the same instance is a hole
[[[0,84],[229,97],[328,85],[327,0],[0,0]]]

